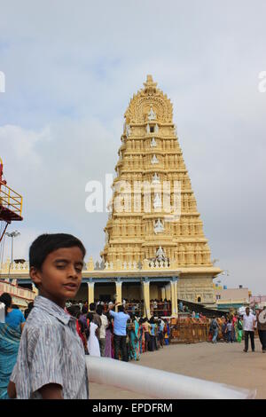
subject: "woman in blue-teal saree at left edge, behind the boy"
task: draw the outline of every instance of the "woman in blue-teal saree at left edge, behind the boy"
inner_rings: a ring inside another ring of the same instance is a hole
[[[7,386],[17,361],[25,318],[20,310],[12,309],[12,297],[8,293],[0,296],[0,303],[5,305],[5,323],[0,323],[0,399],[9,399]]]

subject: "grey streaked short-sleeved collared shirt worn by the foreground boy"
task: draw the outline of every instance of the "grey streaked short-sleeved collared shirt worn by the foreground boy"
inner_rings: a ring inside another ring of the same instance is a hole
[[[42,398],[38,389],[61,385],[65,399],[89,398],[88,376],[76,320],[58,304],[37,296],[23,329],[11,381],[17,398]]]

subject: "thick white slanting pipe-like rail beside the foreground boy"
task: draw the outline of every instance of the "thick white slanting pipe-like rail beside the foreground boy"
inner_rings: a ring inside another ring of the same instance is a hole
[[[138,366],[111,358],[86,357],[89,382],[110,385],[160,399],[251,399],[256,390],[241,389]]]

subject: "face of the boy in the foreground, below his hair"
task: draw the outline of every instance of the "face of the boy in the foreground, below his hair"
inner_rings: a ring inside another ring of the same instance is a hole
[[[38,286],[40,295],[60,307],[73,299],[82,283],[83,254],[80,248],[59,248],[49,254],[42,271],[30,269],[30,277]]]

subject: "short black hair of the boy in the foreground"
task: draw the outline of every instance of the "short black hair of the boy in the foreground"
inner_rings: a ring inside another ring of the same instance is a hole
[[[81,249],[83,257],[86,255],[86,249],[81,240],[75,238],[72,234],[41,234],[41,236],[34,240],[29,248],[29,267],[34,266],[36,269],[41,270],[45,258],[51,254],[51,252],[60,248],[74,247]]]

